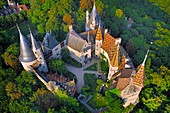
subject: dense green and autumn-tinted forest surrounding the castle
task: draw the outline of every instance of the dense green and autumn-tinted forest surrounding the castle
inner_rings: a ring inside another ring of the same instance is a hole
[[[0,16],[0,112],[12,113],[80,113],[85,112],[75,98],[58,92],[53,95],[31,73],[23,70],[19,56],[19,35],[15,27],[21,26],[24,35],[28,25],[37,40],[52,31],[58,41],[65,39],[68,25],[76,32],[84,31],[85,11],[91,11],[95,1],[99,15],[115,38],[122,38],[137,67],[148,48],[145,87],[140,102],[132,113],[170,112],[170,0],[15,0],[26,4],[29,11]],[[7,6],[0,1],[0,8]],[[127,19],[133,21],[129,28]],[[26,25],[26,26],[25,26]],[[153,42],[150,45],[150,42]],[[112,95],[108,94],[109,100]],[[51,101],[53,100],[53,101]],[[119,110],[116,101],[110,107]],[[121,112],[121,111],[117,111]]]

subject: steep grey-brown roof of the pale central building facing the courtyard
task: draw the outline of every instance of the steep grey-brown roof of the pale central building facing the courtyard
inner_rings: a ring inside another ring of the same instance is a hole
[[[85,43],[86,40],[82,39],[74,30],[68,33],[67,46],[78,52],[82,52]]]

